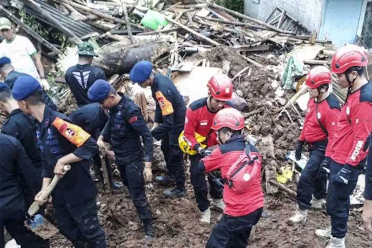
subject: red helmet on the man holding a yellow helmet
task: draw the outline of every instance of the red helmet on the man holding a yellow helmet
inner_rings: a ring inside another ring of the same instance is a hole
[[[209,79],[207,87],[212,97],[218,101],[228,101],[232,96],[232,83],[225,74],[216,74]]]

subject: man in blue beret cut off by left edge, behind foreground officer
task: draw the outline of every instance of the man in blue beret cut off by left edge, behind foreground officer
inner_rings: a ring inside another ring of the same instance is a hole
[[[0,109],[9,114],[9,118],[1,127],[1,133],[13,136],[21,142],[26,154],[31,159],[32,165],[40,173],[41,184],[42,159],[40,149],[36,143],[34,121],[32,117],[30,118],[19,109],[17,102],[13,99],[12,91],[6,83],[0,83]],[[32,194],[31,188],[25,179],[22,178],[22,175],[20,176],[20,186],[22,187],[22,192],[25,193],[26,205],[30,206],[35,195]]]

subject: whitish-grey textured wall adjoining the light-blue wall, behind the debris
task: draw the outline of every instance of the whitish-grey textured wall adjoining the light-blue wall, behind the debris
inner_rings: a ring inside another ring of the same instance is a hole
[[[245,0],[244,13],[246,15],[264,21],[273,9],[279,6],[309,31],[319,30],[325,0],[259,0],[259,4],[254,3],[255,1],[257,0]]]

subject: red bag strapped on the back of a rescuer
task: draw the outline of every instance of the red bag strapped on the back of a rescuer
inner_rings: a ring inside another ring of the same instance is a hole
[[[261,161],[257,156],[251,158],[249,144],[242,154],[228,169],[225,183],[236,194],[246,192],[257,178]]]

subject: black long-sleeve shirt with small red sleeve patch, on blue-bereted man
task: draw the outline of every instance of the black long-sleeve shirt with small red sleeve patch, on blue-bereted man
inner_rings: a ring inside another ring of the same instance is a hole
[[[125,165],[142,158],[151,162],[154,151],[153,137],[143,120],[141,109],[131,99],[119,94],[122,99],[117,106],[109,110],[109,120],[101,135],[106,142],[111,140],[117,163]]]

